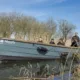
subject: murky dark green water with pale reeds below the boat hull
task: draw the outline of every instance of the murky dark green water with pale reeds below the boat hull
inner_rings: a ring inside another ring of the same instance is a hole
[[[65,67],[65,72],[68,71],[69,64],[70,61]],[[51,74],[56,76],[60,74],[62,69],[60,60],[3,61],[0,64],[0,80],[12,80],[13,77],[48,77]],[[55,80],[57,78],[55,77]]]

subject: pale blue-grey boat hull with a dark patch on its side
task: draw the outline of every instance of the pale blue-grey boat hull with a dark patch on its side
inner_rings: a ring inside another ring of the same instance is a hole
[[[56,46],[43,43],[0,39],[0,59],[54,59],[62,53],[79,53],[80,48]]]

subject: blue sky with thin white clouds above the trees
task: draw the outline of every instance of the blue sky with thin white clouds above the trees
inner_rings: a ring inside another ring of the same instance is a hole
[[[68,20],[80,35],[80,0],[0,0],[0,12],[18,12],[45,21]]]

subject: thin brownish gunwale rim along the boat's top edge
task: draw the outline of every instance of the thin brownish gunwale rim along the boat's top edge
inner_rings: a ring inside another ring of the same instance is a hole
[[[9,40],[9,41],[15,41],[15,42],[21,42],[21,43],[39,44],[39,45],[52,46],[52,47],[60,47],[60,48],[80,49],[80,47],[68,47],[68,46],[62,46],[62,45],[56,45],[56,44],[46,44],[46,43],[39,43],[39,42],[32,42],[32,41],[9,39],[9,38],[0,38],[0,40]]]

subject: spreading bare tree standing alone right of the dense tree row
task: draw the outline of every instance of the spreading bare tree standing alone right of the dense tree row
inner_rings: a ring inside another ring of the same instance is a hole
[[[75,25],[69,23],[67,20],[61,20],[59,22],[59,31],[61,32],[62,38],[67,40],[67,36],[76,28]]]

